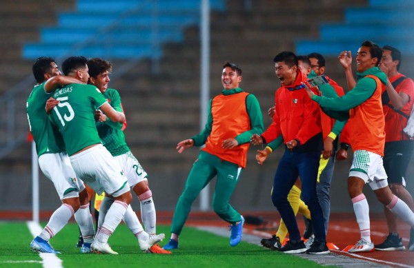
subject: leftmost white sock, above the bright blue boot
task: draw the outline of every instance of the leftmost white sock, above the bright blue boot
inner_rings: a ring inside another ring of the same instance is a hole
[[[68,223],[72,215],[74,214],[73,208],[68,204],[62,204],[58,209],[53,212],[52,216],[45,229],[41,231],[39,237],[48,241],[55,236],[65,225]]]

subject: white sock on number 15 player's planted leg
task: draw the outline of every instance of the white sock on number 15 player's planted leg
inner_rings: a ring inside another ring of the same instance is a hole
[[[124,214],[127,208],[128,204],[118,200],[114,201],[106,213],[101,229],[99,230],[99,234],[97,234],[97,240],[99,243],[108,242],[108,238],[113,233],[113,231],[115,231],[119,223],[121,223],[122,218],[124,218]]]

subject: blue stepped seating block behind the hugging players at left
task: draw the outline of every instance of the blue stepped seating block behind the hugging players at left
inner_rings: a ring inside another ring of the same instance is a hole
[[[54,27],[40,29],[38,43],[23,46],[24,59],[38,56],[101,56],[141,59],[161,56],[161,45],[184,40],[184,27],[197,25],[200,1],[77,0],[75,12],[61,12]],[[210,0],[225,10],[225,0]],[[155,16],[156,14],[156,16]]]

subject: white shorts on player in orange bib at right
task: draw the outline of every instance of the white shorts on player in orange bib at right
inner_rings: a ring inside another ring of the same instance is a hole
[[[373,190],[388,185],[384,165],[382,165],[382,156],[366,150],[356,150],[354,152],[349,176],[362,178]]]

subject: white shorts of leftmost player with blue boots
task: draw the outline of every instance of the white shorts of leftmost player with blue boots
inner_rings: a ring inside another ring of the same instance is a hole
[[[39,156],[39,166],[43,174],[52,181],[59,198],[79,197],[79,192],[85,189],[83,181],[76,176],[70,165],[66,152],[57,154],[42,154]]]

